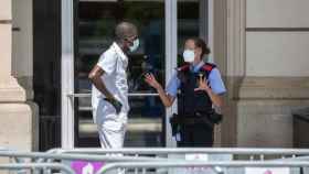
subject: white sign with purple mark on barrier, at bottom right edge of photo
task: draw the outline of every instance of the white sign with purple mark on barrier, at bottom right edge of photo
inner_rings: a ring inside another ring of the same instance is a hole
[[[246,167],[245,174],[289,174],[288,167]]]

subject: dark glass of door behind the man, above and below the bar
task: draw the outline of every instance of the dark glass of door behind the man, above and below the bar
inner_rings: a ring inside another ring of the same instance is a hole
[[[120,21],[139,29],[140,47],[129,55],[129,93],[156,93],[142,74],[153,73],[164,85],[164,3],[163,1],[79,1],[75,93],[89,94],[87,74],[99,55],[113,43],[114,28]],[[164,108],[158,97],[130,97],[131,110],[125,146],[164,146]],[[98,146],[92,123],[90,98],[75,102],[77,146]]]

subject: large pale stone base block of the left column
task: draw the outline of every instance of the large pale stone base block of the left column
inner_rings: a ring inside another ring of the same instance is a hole
[[[0,104],[0,146],[39,150],[39,112],[34,102]]]

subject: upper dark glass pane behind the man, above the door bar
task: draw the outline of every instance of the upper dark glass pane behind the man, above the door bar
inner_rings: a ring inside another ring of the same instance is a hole
[[[139,50],[129,55],[129,91],[151,90],[142,73],[154,73],[164,83],[163,2],[79,2],[77,78],[86,79],[98,56],[111,44],[115,25],[122,20],[137,24],[140,37]],[[77,90],[88,91],[88,87],[82,83]]]

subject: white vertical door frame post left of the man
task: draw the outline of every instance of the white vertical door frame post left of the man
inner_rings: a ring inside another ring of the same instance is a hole
[[[74,0],[61,1],[61,145],[74,148]]]

